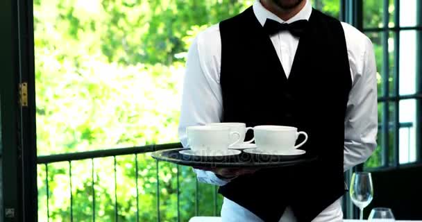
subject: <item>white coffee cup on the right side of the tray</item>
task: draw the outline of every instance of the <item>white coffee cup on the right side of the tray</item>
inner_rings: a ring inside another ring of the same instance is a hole
[[[262,151],[289,151],[307,142],[307,134],[292,126],[255,126],[253,133],[255,144]],[[305,139],[295,146],[299,135],[304,135]]]

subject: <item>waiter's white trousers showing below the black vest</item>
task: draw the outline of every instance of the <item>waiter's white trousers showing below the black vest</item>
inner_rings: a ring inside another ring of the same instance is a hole
[[[246,210],[237,203],[224,198],[221,208],[221,222],[264,222],[258,216]],[[321,214],[316,216],[312,222],[340,222],[343,221],[343,211],[341,210],[341,198],[328,206]],[[279,222],[296,222],[292,209],[287,207]]]

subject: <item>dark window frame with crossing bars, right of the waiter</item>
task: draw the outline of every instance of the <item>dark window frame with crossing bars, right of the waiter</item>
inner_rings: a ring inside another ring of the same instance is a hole
[[[374,27],[362,27],[360,29],[363,33],[380,33],[382,34],[382,86],[383,92],[382,96],[378,96],[378,104],[383,103],[382,110],[382,122],[379,123],[380,132],[382,132],[382,145],[381,145],[381,157],[382,164],[380,167],[365,167],[366,171],[378,171],[380,169],[396,169],[400,166],[412,166],[414,164],[422,163],[422,65],[420,62],[422,60],[422,18],[419,16],[416,21],[416,26],[400,26],[400,0],[394,1],[394,26],[389,27],[389,0],[383,1],[383,15],[382,15],[382,28]],[[420,15],[422,12],[422,3],[421,1],[416,1],[416,15]],[[364,10],[364,8],[360,8]],[[360,13],[363,22],[363,15]],[[416,93],[400,95],[400,32],[401,31],[416,31]],[[390,64],[389,64],[389,51],[388,51],[388,38],[390,35],[395,36],[394,41],[394,70],[393,75],[390,75]],[[419,44],[417,44],[419,42]],[[385,50],[387,49],[387,50]],[[391,89],[389,89],[389,78],[393,78],[394,81],[394,92],[391,95]],[[416,101],[416,160],[414,162],[400,164],[399,153],[400,153],[400,136],[399,129],[405,127],[405,123],[400,123],[399,113],[400,113],[400,101],[407,99],[414,99]],[[393,162],[389,161],[390,151],[390,134],[389,128],[391,125],[389,106],[394,105],[394,121],[392,122],[394,128],[394,144],[393,145]],[[363,167],[360,167],[363,169]]]

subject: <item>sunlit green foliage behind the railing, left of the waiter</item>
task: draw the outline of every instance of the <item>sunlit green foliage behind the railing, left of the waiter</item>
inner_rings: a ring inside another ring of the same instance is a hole
[[[183,55],[199,31],[250,4],[35,1],[38,155],[177,142]],[[92,215],[115,221],[116,207],[119,221],[135,221],[137,209],[140,221],[156,221],[158,195],[160,220],[175,221],[177,173],[180,219],[194,216],[191,168],[160,163],[157,171],[148,154],[137,155],[137,164],[137,175],[134,155],[116,164],[113,158],[49,164],[48,176],[38,166],[40,221],[47,214],[50,221],[92,221]],[[213,189],[200,185],[203,215],[213,214]]]

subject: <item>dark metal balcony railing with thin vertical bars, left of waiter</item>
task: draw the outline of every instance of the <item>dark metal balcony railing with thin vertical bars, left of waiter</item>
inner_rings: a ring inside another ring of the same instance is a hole
[[[53,163],[57,163],[57,162],[67,162],[68,164],[68,169],[69,171],[67,172],[67,176],[69,178],[69,187],[70,187],[70,192],[69,194],[65,194],[62,195],[62,198],[68,198],[68,200],[70,200],[70,206],[68,207],[68,214],[69,214],[69,218],[64,219],[64,221],[75,221],[74,220],[74,194],[72,192],[72,185],[74,183],[74,181],[72,181],[72,177],[74,175],[72,175],[72,163],[74,162],[78,162],[81,160],[91,160],[90,164],[91,164],[91,192],[92,194],[90,194],[90,196],[92,196],[92,200],[91,200],[91,208],[92,208],[92,218],[89,219],[89,221],[99,221],[99,219],[97,219],[96,215],[98,214],[96,212],[96,205],[98,205],[98,203],[96,203],[96,189],[95,189],[95,183],[94,183],[94,177],[95,177],[95,168],[94,168],[94,160],[96,159],[100,159],[100,158],[105,158],[105,157],[111,157],[114,164],[113,164],[113,168],[114,168],[114,175],[110,175],[112,177],[114,177],[114,218],[112,218],[112,221],[122,221],[121,218],[119,217],[119,203],[118,203],[118,196],[117,196],[117,159],[116,157],[119,156],[127,156],[127,155],[133,155],[133,162],[135,165],[135,187],[136,187],[136,212],[133,212],[133,214],[136,214],[135,219],[133,219],[133,221],[142,221],[140,219],[140,214],[155,214],[154,217],[156,216],[156,221],[163,221],[162,220],[162,212],[160,210],[160,207],[162,207],[162,203],[160,203],[160,178],[159,178],[159,162],[155,161],[155,166],[153,166],[155,168],[155,179],[157,180],[156,182],[156,209],[155,212],[151,212],[151,209],[140,209],[140,191],[138,190],[138,180],[140,177],[140,170],[139,166],[138,166],[138,156],[139,155],[143,155],[146,153],[150,153],[153,151],[159,151],[159,150],[164,150],[164,149],[169,149],[169,148],[180,148],[182,147],[181,144],[177,143],[177,144],[162,144],[162,145],[151,145],[151,146],[142,146],[142,147],[133,147],[133,148],[116,148],[116,149],[107,149],[107,150],[101,150],[101,151],[88,151],[88,152],[83,152],[83,153],[65,153],[65,154],[59,154],[59,155],[48,155],[48,156],[40,156],[37,158],[37,164],[38,166],[44,166],[45,167],[45,178],[44,178],[44,183],[45,183],[45,191],[47,194],[47,221],[52,221],[51,220],[51,210],[50,210],[50,206],[49,206],[49,202],[51,202],[51,188],[49,185],[51,185],[51,178],[49,178],[49,166],[51,166],[51,164]],[[183,187],[180,187],[180,167],[176,164],[174,164],[176,166],[176,198],[177,198],[177,216],[176,218],[174,218],[174,220],[172,221],[183,221],[181,216],[180,216],[180,190],[183,189]],[[87,171],[89,171],[89,169],[87,169]],[[193,172],[192,172],[193,173]],[[38,178],[38,180],[40,180],[40,177]],[[199,185],[199,182],[195,179],[194,182],[196,183],[194,185],[195,189],[194,189],[194,195],[192,195],[192,198],[194,198],[194,206],[188,206],[190,207],[189,209],[194,208],[194,214],[192,216],[199,216],[199,202],[200,202],[200,194],[199,194],[199,187],[203,187],[203,186],[208,186],[208,189],[212,189],[212,196],[208,196],[206,197],[208,200],[212,199],[212,215],[207,215],[207,216],[218,216],[218,211],[217,208],[219,207],[219,200],[217,198],[217,187],[215,186],[211,186],[211,185]],[[210,188],[212,187],[212,188]],[[39,193],[40,193],[40,188],[39,189]],[[208,192],[208,195],[210,194],[210,192]],[[62,201],[62,200],[61,200]],[[40,203],[40,196],[39,196],[39,200],[38,202]],[[210,203],[207,203],[208,205],[210,205]],[[185,207],[186,208],[186,207]],[[210,210],[208,210],[210,212]],[[45,217],[45,215],[43,215]],[[38,216],[40,218],[40,215]],[[152,219],[155,221],[155,219]],[[149,220],[150,221],[150,220]]]

